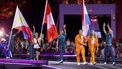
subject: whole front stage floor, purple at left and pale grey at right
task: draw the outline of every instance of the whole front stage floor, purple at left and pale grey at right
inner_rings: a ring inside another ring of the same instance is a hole
[[[34,66],[35,65],[35,66]],[[59,64],[59,61],[0,59],[0,69],[122,69],[122,64],[116,65],[97,63],[96,65],[77,65],[76,62]]]

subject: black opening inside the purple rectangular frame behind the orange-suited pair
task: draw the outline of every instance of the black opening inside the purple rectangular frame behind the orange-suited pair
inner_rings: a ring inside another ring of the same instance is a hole
[[[90,15],[91,16],[91,15]],[[102,38],[105,39],[105,34],[103,32],[103,23],[109,23],[111,25],[110,15],[95,15],[97,16],[99,30],[101,32]],[[71,41],[75,40],[76,34],[78,34],[79,29],[82,29],[82,16],[81,15],[65,15],[64,23],[66,24],[67,38]],[[91,23],[92,24],[92,23]],[[107,27],[106,27],[107,29]],[[108,31],[108,29],[107,29]]]

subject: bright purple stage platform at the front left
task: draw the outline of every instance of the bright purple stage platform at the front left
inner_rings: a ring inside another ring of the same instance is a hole
[[[2,59],[0,69],[56,69],[48,66],[47,60]]]

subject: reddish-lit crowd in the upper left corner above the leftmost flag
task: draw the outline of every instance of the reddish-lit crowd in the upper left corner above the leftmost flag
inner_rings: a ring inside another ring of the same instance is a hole
[[[26,0],[0,0],[0,19],[11,17],[15,12],[16,5],[20,7],[26,4]]]

